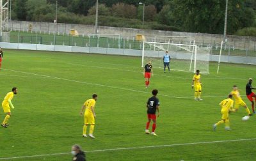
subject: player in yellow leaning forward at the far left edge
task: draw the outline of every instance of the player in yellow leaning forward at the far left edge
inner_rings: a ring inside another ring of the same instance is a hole
[[[11,117],[11,108],[14,109],[14,106],[12,104],[12,98],[14,95],[16,95],[18,92],[17,88],[12,88],[12,91],[7,93],[6,96],[4,97],[4,100],[2,102],[2,107],[4,110],[4,113],[6,114],[3,123],[1,124],[2,127],[6,128],[8,127],[8,120]]]

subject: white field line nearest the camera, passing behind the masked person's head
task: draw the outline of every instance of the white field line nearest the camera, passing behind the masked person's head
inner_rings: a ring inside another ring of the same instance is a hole
[[[138,150],[138,149],[146,149],[146,148],[164,148],[164,147],[174,147],[174,146],[189,146],[196,144],[214,144],[221,142],[239,142],[239,141],[253,141],[256,138],[251,139],[236,139],[236,140],[228,140],[228,141],[205,141],[205,142],[190,142],[190,143],[181,143],[181,144],[165,144],[165,145],[156,145],[156,146],[138,146],[138,147],[128,147],[128,148],[112,148],[105,150],[89,150],[85,151],[86,153],[95,153],[95,152],[104,152],[104,151],[118,151],[118,150]],[[45,155],[28,155],[28,156],[20,156],[20,157],[10,157],[10,158],[0,158],[0,160],[11,160],[15,158],[35,158],[35,157],[48,157],[53,155],[71,155],[71,153],[52,153]]]

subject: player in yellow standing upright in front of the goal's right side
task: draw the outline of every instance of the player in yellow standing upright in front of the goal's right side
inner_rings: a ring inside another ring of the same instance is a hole
[[[201,92],[202,92],[202,87],[201,87],[201,75],[200,75],[200,70],[196,70],[196,74],[193,77],[192,80],[192,88],[195,89],[195,100],[203,100],[201,98]]]

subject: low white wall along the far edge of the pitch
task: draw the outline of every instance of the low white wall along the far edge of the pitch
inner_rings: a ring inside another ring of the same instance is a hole
[[[116,54],[120,56],[141,56],[141,50],[133,49],[113,49],[101,47],[75,47],[63,45],[42,45],[30,43],[6,43],[0,42],[3,49],[19,49],[19,50],[47,50],[59,52],[81,52],[81,53],[98,53],[98,54]],[[181,56],[182,57],[182,56]],[[178,57],[180,58],[180,57]],[[183,57],[184,58],[184,57]],[[209,61],[217,61],[219,56],[210,55]],[[243,63],[256,65],[256,57],[241,57],[241,56],[221,56],[221,62],[225,63]]]

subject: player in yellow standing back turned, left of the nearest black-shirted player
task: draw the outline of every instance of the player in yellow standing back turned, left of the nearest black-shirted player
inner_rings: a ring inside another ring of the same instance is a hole
[[[96,100],[97,100],[97,95],[93,94],[92,99],[86,100],[86,102],[84,102],[83,107],[81,109],[80,114],[82,116],[84,114],[83,137],[87,137],[86,129],[87,129],[88,125],[90,125],[89,137],[91,137],[93,139],[95,138],[93,136],[93,130],[94,130],[95,118],[96,118],[96,114],[95,114],[95,110],[94,110]]]

